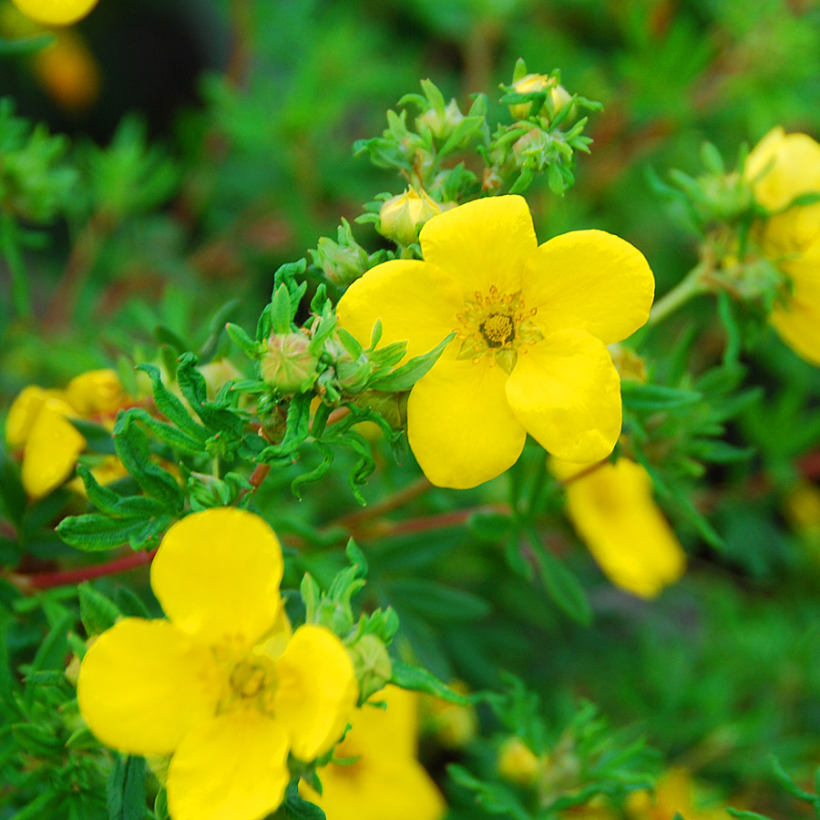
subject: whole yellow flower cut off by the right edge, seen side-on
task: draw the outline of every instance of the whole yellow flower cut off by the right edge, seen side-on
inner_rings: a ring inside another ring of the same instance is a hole
[[[820,193],[820,145],[774,128],[749,154],[744,175],[759,204],[781,211],[759,231],[764,253],[791,281],[769,322],[794,351],[820,364],[820,202],[787,208],[796,197]]]

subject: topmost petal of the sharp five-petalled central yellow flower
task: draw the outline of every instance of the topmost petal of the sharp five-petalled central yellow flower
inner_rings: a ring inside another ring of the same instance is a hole
[[[446,210],[419,235],[425,261],[453,277],[463,299],[476,291],[515,293],[530,254],[538,247],[527,200],[487,197]]]

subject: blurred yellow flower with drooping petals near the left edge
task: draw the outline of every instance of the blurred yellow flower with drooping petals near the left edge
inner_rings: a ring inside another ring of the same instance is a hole
[[[12,449],[23,450],[26,493],[47,496],[74,472],[86,439],[69,419],[114,415],[127,400],[113,370],[78,375],[65,390],[24,388],[9,408],[5,440]]]

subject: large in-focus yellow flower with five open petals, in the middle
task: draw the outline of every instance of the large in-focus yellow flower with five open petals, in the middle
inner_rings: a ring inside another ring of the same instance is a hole
[[[620,434],[620,379],[606,345],[649,316],[654,279],[629,242],[573,231],[538,245],[527,202],[468,202],[425,224],[425,261],[377,265],[338,305],[365,344],[424,354],[449,333],[407,406],[410,446],[440,487],[475,487],[513,465],[529,433],[570,461]]]

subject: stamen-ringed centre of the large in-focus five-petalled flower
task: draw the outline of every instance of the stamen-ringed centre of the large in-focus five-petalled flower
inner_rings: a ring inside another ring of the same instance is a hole
[[[490,365],[512,373],[518,354],[544,338],[531,321],[535,314],[536,308],[527,310],[520,291],[500,293],[495,285],[488,293],[476,291],[475,298],[464,303],[463,312],[456,313],[458,358],[477,364],[488,355]]]

